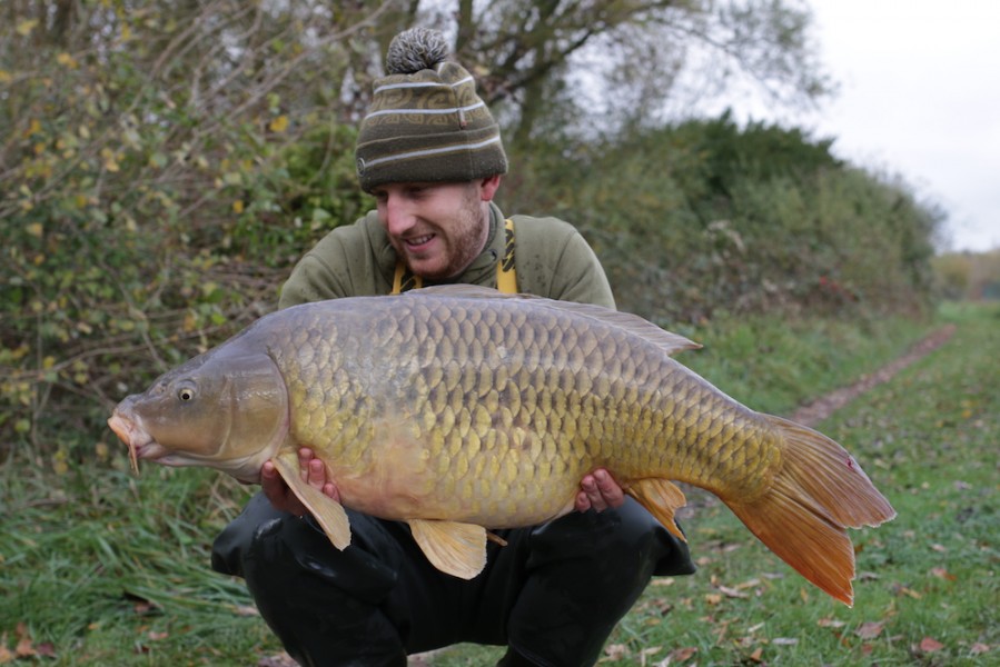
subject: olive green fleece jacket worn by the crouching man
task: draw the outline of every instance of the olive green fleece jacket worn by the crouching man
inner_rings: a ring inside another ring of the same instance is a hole
[[[604,269],[573,226],[556,218],[514,216],[513,220],[518,291],[615,307]],[[491,203],[485,249],[448,282],[496,287],[496,263],[504,253],[503,221],[499,208]],[[396,251],[372,211],[354,225],[330,231],[299,260],[281,288],[278,306],[387,295],[395,271]]]

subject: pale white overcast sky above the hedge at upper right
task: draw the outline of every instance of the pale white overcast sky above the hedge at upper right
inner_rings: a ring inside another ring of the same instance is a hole
[[[810,4],[840,93],[806,127],[940,203],[952,249],[1000,248],[1000,2]]]

